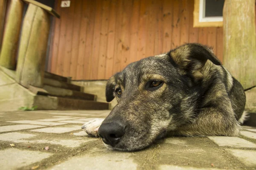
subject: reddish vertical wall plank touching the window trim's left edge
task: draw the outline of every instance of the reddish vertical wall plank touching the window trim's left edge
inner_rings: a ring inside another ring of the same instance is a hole
[[[189,42],[198,42],[198,28],[193,28],[194,1],[189,0]]]

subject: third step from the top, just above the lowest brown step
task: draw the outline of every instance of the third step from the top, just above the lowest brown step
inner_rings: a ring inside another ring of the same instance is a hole
[[[97,96],[93,94],[82,93],[65,88],[57,88],[50,85],[44,85],[44,90],[48,92],[49,96],[60,96],[73,99],[96,100]]]

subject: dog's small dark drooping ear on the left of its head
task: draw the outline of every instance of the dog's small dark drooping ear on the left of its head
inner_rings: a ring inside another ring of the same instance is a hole
[[[107,102],[111,102],[115,98],[114,91],[115,91],[115,85],[116,85],[116,78],[118,77],[118,75],[119,73],[116,73],[107,82],[107,85],[106,85]]]

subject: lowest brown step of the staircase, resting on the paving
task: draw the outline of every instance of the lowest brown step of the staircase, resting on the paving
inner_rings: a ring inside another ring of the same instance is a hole
[[[57,110],[108,110],[109,103],[58,97]]]

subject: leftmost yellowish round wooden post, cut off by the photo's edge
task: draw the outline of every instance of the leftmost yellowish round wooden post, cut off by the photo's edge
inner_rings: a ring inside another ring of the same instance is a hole
[[[0,65],[12,70],[15,69],[15,57],[20,35],[22,12],[22,0],[12,0],[0,53]]]

